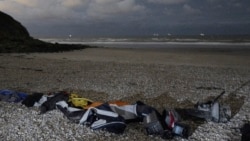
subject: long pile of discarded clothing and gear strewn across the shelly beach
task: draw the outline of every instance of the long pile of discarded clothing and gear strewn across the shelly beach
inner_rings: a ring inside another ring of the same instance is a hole
[[[230,120],[231,111],[229,106],[217,101],[222,95],[223,93],[213,101],[197,103],[193,109],[182,110],[189,116],[226,123]],[[0,101],[21,102],[27,107],[38,107],[40,114],[57,109],[71,122],[86,125],[92,130],[122,134],[127,124],[140,122],[147,135],[163,139],[175,136],[188,138],[191,135],[189,125],[182,123],[182,118],[175,109],[165,109],[160,113],[141,101],[133,104],[120,100],[99,102],[65,91],[26,94],[12,90],[0,90]]]

